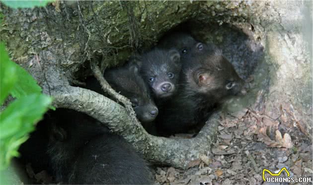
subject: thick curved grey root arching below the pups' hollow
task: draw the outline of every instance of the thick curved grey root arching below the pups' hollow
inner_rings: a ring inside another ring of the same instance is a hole
[[[195,138],[157,137],[148,134],[137,120],[132,121],[124,107],[96,92],[67,86],[53,96],[56,107],[73,109],[99,120],[132,143],[147,160],[176,168],[187,168],[190,161],[207,154],[219,125],[219,114],[214,114]]]

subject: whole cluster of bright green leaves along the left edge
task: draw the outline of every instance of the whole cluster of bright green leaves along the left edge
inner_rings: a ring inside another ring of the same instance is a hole
[[[0,43],[0,103],[15,97],[0,113],[0,169],[5,169],[18,147],[25,142],[34,125],[48,110],[52,98],[41,93],[36,81],[22,67],[9,60]]]

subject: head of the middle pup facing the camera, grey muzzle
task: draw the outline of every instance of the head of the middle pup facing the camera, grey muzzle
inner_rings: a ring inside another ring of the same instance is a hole
[[[155,99],[166,99],[176,92],[181,69],[177,50],[155,48],[137,57],[133,63],[140,67],[140,74],[152,89]]]

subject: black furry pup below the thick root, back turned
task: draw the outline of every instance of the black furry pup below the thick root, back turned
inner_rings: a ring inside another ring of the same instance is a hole
[[[57,110],[48,155],[57,183],[152,184],[146,161],[122,137],[72,110]]]

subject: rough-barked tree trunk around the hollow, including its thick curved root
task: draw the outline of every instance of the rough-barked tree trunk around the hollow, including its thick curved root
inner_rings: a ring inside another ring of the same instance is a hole
[[[292,117],[294,123],[287,123],[288,126],[297,126],[310,135],[312,55],[309,46],[312,43],[307,43],[307,35],[302,34],[305,13],[312,18],[310,4],[301,1],[58,1],[45,8],[16,10],[0,4],[4,15],[0,33],[12,60],[32,74],[44,93],[54,96],[57,107],[75,109],[98,119],[133,143],[149,160],[186,168],[190,161],[210,150],[218,115],[212,116],[210,124],[193,139],[151,136],[123,106],[95,92],[71,86],[92,74],[88,62],[97,62],[95,59],[101,56],[101,69],[122,64],[134,52],[152,47],[166,31],[185,21],[208,27],[215,25],[220,30],[227,24],[260,42],[265,48],[265,60],[259,62],[256,69],[256,63],[251,66],[255,71],[255,87],[250,96],[226,104],[226,110],[254,105],[258,114],[273,119]],[[312,19],[308,22],[312,24]],[[204,39],[200,32],[206,30],[196,28],[191,32]],[[220,34],[223,40],[223,31]],[[211,40],[219,38],[219,35],[207,35]],[[240,64],[235,67],[242,68]]]

